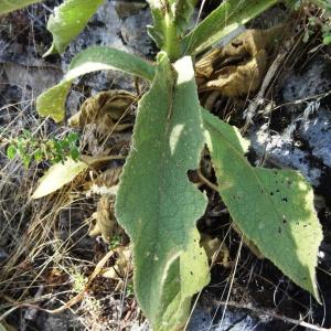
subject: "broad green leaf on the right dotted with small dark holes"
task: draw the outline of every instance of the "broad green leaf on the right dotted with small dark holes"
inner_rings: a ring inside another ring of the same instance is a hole
[[[313,193],[292,170],[252,167],[239,131],[203,110],[207,147],[222,199],[235,224],[285,275],[319,300],[316,281],[322,231]]]

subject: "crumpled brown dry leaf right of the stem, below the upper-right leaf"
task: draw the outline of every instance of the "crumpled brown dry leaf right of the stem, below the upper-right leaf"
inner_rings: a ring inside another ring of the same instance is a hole
[[[268,55],[284,26],[246,30],[229,44],[215,49],[196,63],[200,92],[217,92],[213,99],[246,96],[256,92],[268,65]]]

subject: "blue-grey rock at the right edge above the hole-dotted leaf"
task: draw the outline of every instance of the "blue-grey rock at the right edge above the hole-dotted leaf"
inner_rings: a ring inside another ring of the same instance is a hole
[[[288,75],[282,98],[290,124],[273,134],[265,125],[255,127],[249,137],[259,158],[270,166],[299,170],[314,186],[323,174],[321,162],[331,167],[331,113],[320,106],[321,95],[331,88],[330,63],[317,57],[300,74]]]

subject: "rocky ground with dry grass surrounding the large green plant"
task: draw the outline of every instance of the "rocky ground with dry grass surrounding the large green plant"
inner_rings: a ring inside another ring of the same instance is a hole
[[[62,56],[43,58],[52,41],[45,31],[46,18],[55,2],[49,0],[0,18],[0,329],[148,330],[130,288],[117,288],[118,280],[102,276],[75,305],[58,313],[50,311],[84,290],[93,268],[109,250],[100,237],[88,235],[99,196],[83,196],[79,185],[84,180],[78,179],[72,191],[31,201],[36,180],[49,164],[32,163],[24,169],[20,160],[6,157],[6,139],[17,137],[23,128],[41,137],[63,137],[72,130],[39,118],[34,100],[61,79],[81,50],[100,44],[147,58],[157,52],[146,33],[151,22],[147,4],[108,0]],[[210,1],[205,13],[211,9]],[[318,29],[303,42],[305,13],[289,17],[281,6],[252,26],[266,29],[284,20],[292,20],[290,32],[270,55],[271,70],[259,88],[245,97],[221,95],[211,109],[229,118],[252,140],[253,163],[300,170],[312,184],[324,232],[318,267],[323,306],[270,261],[239,245],[220,196],[210,190],[210,204],[199,227],[225,241],[229,265],[238,259],[235,273],[224,260],[213,267],[212,282],[195,302],[188,325],[191,331],[309,330],[296,325],[301,318],[331,328],[331,49],[321,43]],[[270,82],[264,89],[266,79]],[[114,72],[79,78],[67,100],[66,117],[88,96],[114,88],[136,92],[130,77]],[[81,134],[81,149],[94,154],[99,149],[96,136],[88,129]],[[115,132],[111,141],[122,143],[120,152],[125,154],[129,138],[130,129]]]

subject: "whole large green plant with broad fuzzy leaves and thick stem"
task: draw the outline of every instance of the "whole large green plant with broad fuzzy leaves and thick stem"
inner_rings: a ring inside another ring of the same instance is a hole
[[[191,298],[210,280],[195,226],[207,200],[186,174],[199,168],[205,146],[236,227],[320,301],[316,266],[322,232],[310,185],[297,171],[252,167],[245,158],[249,142],[201,107],[194,77],[196,54],[278,1],[226,0],[192,30],[188,26],[197,0],[147,2],[153,17],[148,31],[161,50],[156,62],[92,46],[72,61],[62,82],[38,98],[36,107],[41,115],[63,120],[73,79],[95,71],[118,70],[150,82],[139,102],[116,215],[132,243],[135,293],[153,330],[182,328]],[[50,52],[62,52],[100,3],[64,1],[49,21]]]

